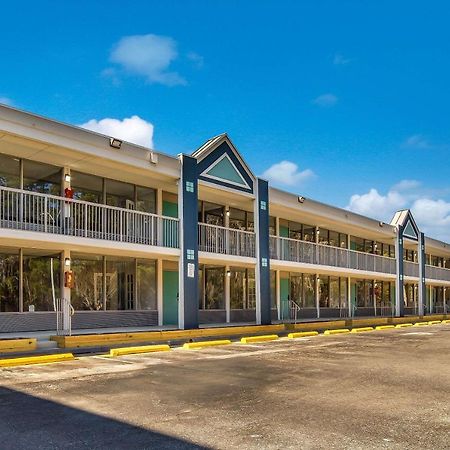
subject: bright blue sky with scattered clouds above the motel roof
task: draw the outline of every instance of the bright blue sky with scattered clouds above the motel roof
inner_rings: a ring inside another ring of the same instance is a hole
[[[450,241],[448,2],[127,3],[2,5],[0,99]]]

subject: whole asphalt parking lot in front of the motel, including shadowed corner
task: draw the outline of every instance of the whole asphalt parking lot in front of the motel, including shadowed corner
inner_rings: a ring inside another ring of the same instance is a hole
[[[450,325],[0,369],[0,448],[450,448]]]

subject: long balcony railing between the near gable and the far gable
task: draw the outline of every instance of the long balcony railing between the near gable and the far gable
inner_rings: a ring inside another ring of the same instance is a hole
[[[278,236],[270,236],[270,257],[282,261],[395,274],[394,258]]]

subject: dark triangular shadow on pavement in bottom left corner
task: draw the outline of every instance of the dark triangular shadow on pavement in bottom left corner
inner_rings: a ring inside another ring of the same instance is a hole
[[[0,387],[0,448],[128,450],[207,447]]]

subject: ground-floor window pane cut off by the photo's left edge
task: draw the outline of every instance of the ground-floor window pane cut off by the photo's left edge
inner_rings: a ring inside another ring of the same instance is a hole
[[[19,311],[19,254],[0,250],[0,312]]]

